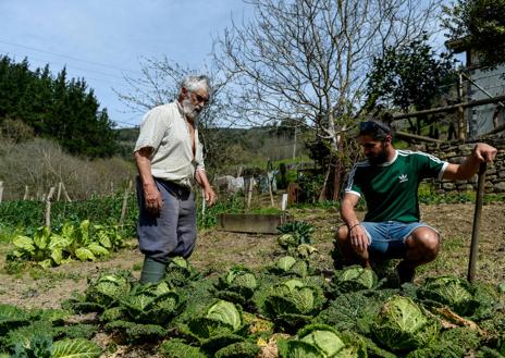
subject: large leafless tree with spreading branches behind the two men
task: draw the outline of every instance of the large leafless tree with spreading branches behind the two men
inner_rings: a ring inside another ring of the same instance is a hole
[[[440,0],[248,0],[255,16],[219,39],[217,61],[233,75],[229,119],[307,126],[342,150],[360,114],[373,57],[430,32]],[[327,174],[327,182],[330,175]],[[338,170],[333,197],[340,188]]]

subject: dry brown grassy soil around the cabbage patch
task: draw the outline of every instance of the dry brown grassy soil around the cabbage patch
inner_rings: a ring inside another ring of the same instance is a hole
[[[426,276],[452,274],[466,277],[472,232],[475,206],[471,203],[421,206],[422,220],[435,226],[442,236],[439,258],[418,270],[416,282]],[[291,209],[294,220],[306,221],[315,226],[313,246],[318,249],[316,266],[331,273],[333,236],[342,223],[335,209]],[[361,212],[362,217],[364,213]],[[204,274],[223,273],[234,264],[251,269],[272,263],[283,255],[275,235],[250,235],[208,230],[199,233],[198,246],[190,262]],[[41,270],[24,268],[17,273],[0,271],[0,303],[26,308],[60,308],[62,300],[73,292],[83,293],[89,279],[104,271],[131,270],[138,277],[143,256],[136,240],[130,247],[99,262],[74,262],[63,267]],[[9,245],[0,245],[0,268],[5,264]],[[505,203],[492,203],[482,208],[479,259],[476,281],[505,282]],[[77,316],[86,321],[86,316]],[[108,350],[102,357],[161,357],[156,346],[121,346],[104,333],[98,333],[94,342]],[[111,351],[108,347],[114,347]],[[268,348],[269,346],[267,346]],[[272,345],[274,347],[274,345]],[[276,351],[263,349],[261,357],[276,357]]]

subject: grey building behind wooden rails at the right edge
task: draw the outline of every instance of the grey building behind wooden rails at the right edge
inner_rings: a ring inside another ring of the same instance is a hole
[[[446,42],[447,48],[456,53],[466,53],[464,73],[468,78],[463,78],[466,94],[464,100],[473,101],[505,95],[505,62],[494,69],[484,67],[479,64],[479,54],[468,48],[467,44],[465,40]],[[476,139],[479,135],[505,124],[505,102],[468,108],[465,116],[468,125],[467,139]],[[497,135],[504,137],[505,133],[502,131]]]

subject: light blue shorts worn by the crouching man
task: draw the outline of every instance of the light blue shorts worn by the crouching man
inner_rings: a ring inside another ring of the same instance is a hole
[[[403,223],[397,221],[361,222],[370,239],[368,250],[372,258],[404,258],[406,252],[405,240],[418,227],[430,227],[423,222]]]

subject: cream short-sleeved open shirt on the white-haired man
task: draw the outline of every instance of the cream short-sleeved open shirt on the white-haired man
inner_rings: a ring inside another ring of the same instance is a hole
[[[195,171],[205,169],[202,146],[195,127],[195,156],[188,123],[177,101],[158,106],[144,115],[134,151],[153,148],[151,174],[190,188]]]

